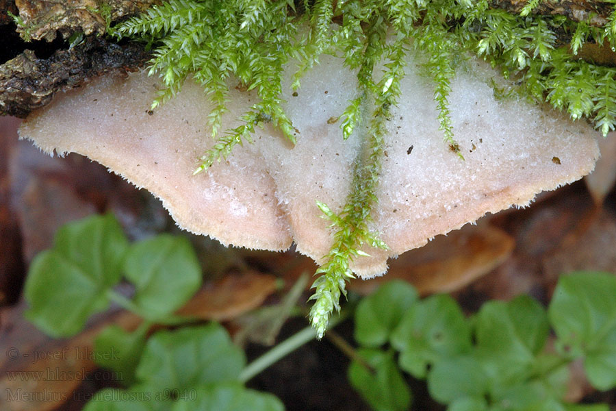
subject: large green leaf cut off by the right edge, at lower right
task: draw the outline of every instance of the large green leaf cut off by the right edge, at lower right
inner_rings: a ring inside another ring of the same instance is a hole
[[[589,382],[616,386],[616,277],[576,273],[561,277],[548,310],[564,355],[584,357]]]

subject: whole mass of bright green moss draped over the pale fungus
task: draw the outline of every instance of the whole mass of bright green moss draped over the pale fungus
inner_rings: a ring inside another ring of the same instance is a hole
[[[585,117],[604,136],[615,128],[616,69],[574,55],[585,42],[616,47],[616,12],[605,27],[593,27],[565,16],[532,14],[537,3],[528,1],[516,15],[489,8],[487,0],[170,0],[109,32],[155,48],[150,74],[158,73],[164,88],[153,109],[174,96],[189,75],[207,92],[214,107],[209,124],[216,144],[195,173],[227,158],[244,140],[251,142],[255,126],[264,123],[295,141],[281,99],[286,64],[297,64],[294,89],[323,53],[344,58],[346,66],[357,71],[358,95],[341,115],[342,138],[363,141],[352,187],[339,212],[317,204],[333,227],[333,245],[317,271],[311,297],[311,323],[320,337],[333,310],[340,308],[340,295],[346,294],[352,259],[365,254],[363,245],[387,248],[369,228],[370,213],[376,203],[385,121],[400,97],[407,53],[417,50],[424,56],[445,144],[460,156],[448,95],[455,67],[470,53],[519,80],[519,91],[530,99],[548,101],[574,120]],[[383,67],[382,73],[375,73],[376,66]],[[247,90],[254,89],[260,101],[242,116],[242,125],[221,133],[231,76]],[[360,124],[368,127],[364,130]]]

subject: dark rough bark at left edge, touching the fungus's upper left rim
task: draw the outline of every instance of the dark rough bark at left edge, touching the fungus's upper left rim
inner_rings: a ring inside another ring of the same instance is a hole
[[[117,45],[95,37],[73,49],[58,50],[49,59],[26,50],[0,66],[0,114],[25,118],[58,91],[81,86],[103,73],[135,71],[148,58],[142,45]]]

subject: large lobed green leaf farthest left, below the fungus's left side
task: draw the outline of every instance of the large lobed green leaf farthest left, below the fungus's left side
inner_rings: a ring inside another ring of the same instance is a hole
[[[27,319],[54,337],[77,334],[105,310],[106,291],[120,280],[128,242],[112,215],[64,225],[53,249],[32,262],[25,284]]]

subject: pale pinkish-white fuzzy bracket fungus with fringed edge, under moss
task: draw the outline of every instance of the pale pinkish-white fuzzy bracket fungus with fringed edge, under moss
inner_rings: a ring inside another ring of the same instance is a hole
[[[384,273],[387,258],[434,236],[487,212],[527,206],[537,192],[593,169],[599,151],[589,125],[524,99],[496,99],[490,82],[498,73],[484,63],[467,64],[449,97],[461,160],[443,142],[432,84],[420,75],[418,62],[407,62],[400,104],[386,121],[370,222],[389,250],[365,246],[370,256],[352,262],[361,277]],[[101,77],[57,95],[29,116],[20,134],[48,153],[87,155],[150,190],[191,232],[258,249],[283,250],[296,242],[298,251],[322,262],[333,239],[316,201],[333,211],[344,206],[361,150],[361,129],[345,141],[335,121],[357,97],[357,76],[342,59],[324,55],[292,95],[287,74],[283,99],[296,145],[266,123],[253,144],[236,148],[207,173],[192,175],[198,158],[214,145],[204,137],[211,103],[191,81],[151,112],[155,79],[142,72]],[[230,127],[256,99],[233,86],[224,117]]]

